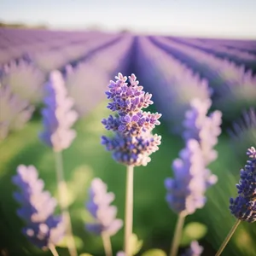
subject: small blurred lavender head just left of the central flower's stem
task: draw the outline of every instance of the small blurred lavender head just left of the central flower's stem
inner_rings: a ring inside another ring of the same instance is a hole
[[[108,236],[115,235],[123,226],[123,221],[116,218],[117,207],[110,206],[114,195],[107,192],[107,185],[98,177],[90,185],[90,201],[86,204],[87,210],[95,218],[96,223],[86,224],[85,227],[96,235],[102,232]]]

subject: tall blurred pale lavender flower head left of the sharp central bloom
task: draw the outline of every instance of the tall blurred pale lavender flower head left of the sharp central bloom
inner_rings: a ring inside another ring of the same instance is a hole
[[[76,137],[76,132],[71,130],[71,126],[78,119],[78,114],[71,110],[73,99],[67,96],[65,82],[60,72],[50,73],[46,89],[48,96],[44,99],[46,107],[42,111],[44,131],[40,138],[55,152],[59,152],[68,148]]]

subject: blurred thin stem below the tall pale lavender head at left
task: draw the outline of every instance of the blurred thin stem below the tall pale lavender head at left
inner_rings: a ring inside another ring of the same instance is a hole
[[[68,212],[67,203],[67,183],[64,178],[63,172],[63,160],[61,152],[55,152],[55,164],[56,164],[56,173],[57,173],[57,183],[58,183],[58,193],[61,212],[63,214],[64,223],[67,227],[67,248],[71,256],[78,256],[75,241],[73,239],[73,230],[71,224],[70,214]]]

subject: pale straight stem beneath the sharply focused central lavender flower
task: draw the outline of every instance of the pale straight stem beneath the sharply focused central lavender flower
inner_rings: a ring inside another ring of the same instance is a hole
[[[133,166],[127,166],[126,171],[126,195],[125,195],[125,255],[131,256],[129,243],[132,235],[133,218]]]

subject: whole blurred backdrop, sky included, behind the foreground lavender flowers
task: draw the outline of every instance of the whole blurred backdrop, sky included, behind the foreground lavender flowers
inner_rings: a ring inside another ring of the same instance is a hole
[[[108,183],[118,217],[124,218],[125,167],[100,143],[106,134],[101,120],[109,114],[104,94],[109,80],[119,72],[135,73],[153,94],[151,110],[163,114],[154,131],[162,136],[160,150],[135,172],[134,232],[143,240],[138,255],[170,247],[177,216],[166,204],[164,180],[172,177],[172,161],[184,147],[189,102],[212,99],[211,111],[223,113],[218,159],[210,166],[218,183],[207,191],[206,206],[186,218],[190,231],[180,252],[195,238],[205,248],[202,255],[214,255],[235,223],[229,199],[236,196],[246,149],[256,146],[255,9],[253,0],[2,0],[0,90],[8,86],[15,100],[1,91],[0,255],[50,255],[21,234],[24,223],[16,215],[11,177],[18,165],[34,165],[56,195],[54,156],[38,139],[44,84],[53,70],[63,74],[79,113],[78,136],[63,153],[67,201],[79,253],[95,256],[103,255],[101,237],[84,230],[91,221],[84,202],[93,177]],[[112,241],[113,251],[119,251],[123,230]],[[223,255],[256,255],[255,241],[256,224],[243,223]],[[68,255],[63,245],[58,251]]]

